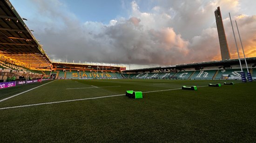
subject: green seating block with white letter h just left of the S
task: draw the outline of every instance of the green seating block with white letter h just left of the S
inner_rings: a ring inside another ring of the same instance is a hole
[[[198,70],[190,77],[192,80],[210,80],[213,79],[217,70]]]

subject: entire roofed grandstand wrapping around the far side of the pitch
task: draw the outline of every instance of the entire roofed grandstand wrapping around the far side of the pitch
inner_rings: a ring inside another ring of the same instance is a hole
[[[199,62],[124,70],[124,67],[82,63],[52,62],[43,47],[33,36],[23,19],[6,1],[1,1],[2,23],[0,23],[0,80],[20,76],[40,78],[54,75],[58,79],[239,79],[237,59],[216,62]],[[3,12],[4,11],[4,12]],[[9,26],[7,26],[7,23]],[[19,46],[20,48],[17,48]],[[244,63],[244,59],[241,59]],[[252,77],[256,77],[256,58],[247,59]],[[244,67],[244,65],[243,65]],[[225,72],[223,72],[225,70]],[[247,73],[246,70],[244,70]]]

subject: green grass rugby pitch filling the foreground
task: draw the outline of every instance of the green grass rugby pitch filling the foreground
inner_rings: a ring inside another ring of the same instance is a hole
[[[0,100],[47,82],[1,89]],[[0,102],[0,142],[255,142],[256,82],[208,87],[223,82],[53,81]]]

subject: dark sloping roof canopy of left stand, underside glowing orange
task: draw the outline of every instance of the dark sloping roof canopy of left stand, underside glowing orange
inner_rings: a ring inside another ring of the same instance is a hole
[[[29,67],[51,65],[51,61],[9,0],[0,0],[0,55]]]

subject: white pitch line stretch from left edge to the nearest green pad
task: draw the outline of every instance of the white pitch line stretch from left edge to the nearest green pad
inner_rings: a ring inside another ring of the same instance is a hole
[[[99,98],[107,98],[107,97],[115,97],[115,96],[123,96],[123,95],[125,95],[125,94],[109,95],[109,96],[101,96],[101,97],[93,97],[93,98],[85,98],[85,99],[64,100],[64,101],[56,101],[56,102],[46,102],[46,103],[30,104],[30,105],[22,105],[22,106],[13,106],[13,107],[4,107],[4,108],[0,108],[0,110],[10,109],[10,108],[27,107],[27,106],[38,106],[38,105],[45,105],[45,104],[72,102],[72,101],[80,101],[80,100],[88,100],[88,99],[99,99]]]

